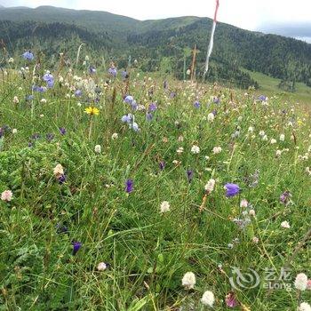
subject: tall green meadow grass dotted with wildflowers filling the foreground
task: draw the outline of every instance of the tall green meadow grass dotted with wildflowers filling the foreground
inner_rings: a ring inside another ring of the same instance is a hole
[[[0,193],[13,194],[11,202],[0,201],[1,310],[203,310],[208,308],[200,299],[207,290],[215,295],[215,310],[227,308],[229,291],[235,292],[236,310],[296,310],[299,299],[310,301],[311,291],[298,299],[293,287],[298,273],[310,277],[308,243],[288,262],[311,220],[310,116],[299,105],[272,97],[266,106],[254,103],[255,94],[211,84],[170,81],[165,91],[160,78],[134,78],[135,71],[129,84],[119,78],[104,84],[106,73],[84,76],[99,85],[96,95],[92,83],[78,82],[65,69],[60,75],[64,82],[55,76],[54,88],[35,92],[34,100],[26,100],[30,74],[6,76],[0,84]],[[76,88],[83,90],[81,98],[73,96]],[[147,109],[157,103],[152,121],[135,111],[140,132],[121,122],[131,112],[126,92]],[[85,114],[89,105],[100,109],[99,116]],[[212,111],[213,122],[207,120]],[[199,154],[191,153],[193,145]],[[178,155],[180,147],[184,152]],[[214,147],[222,151],[214,154]],[[276,150],[282,155],[275,156]],[[63,184],[53,173],[59,163]],[[193,171],[191,180],[187,170]],[[256,170],[258,184],[251,186]],[[133,180],[129,194],[127,179]],[[216,185],[203,204],[209,179]],[[241,187],[239,195],[226,197],[228,182]],[[291,193],[287,205],[280,202],[284,191]],[[243,198],[251,204],[247,208],[240,207]],[[171,207],[162,214],[163,201]],[[256,216],[246,227],[233,222],[248,219],[251,209]],[[281,227],[284,220],[290,228]],[[73,241],[82,243],[76,255]],[[98,271],[100,262],[108,269]],[[292,291],[265,289],[267,269],[277,278],[287,262],[291,274],[284,283]],[[233,267],[255,269],[261,283],[234,289]],[[188,271],[196,276],[190,291],[181,283]]]

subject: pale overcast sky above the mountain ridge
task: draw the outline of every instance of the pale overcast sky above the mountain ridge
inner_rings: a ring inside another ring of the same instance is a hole
[[[184,15],[212,17],[215,0],[0,0],[0,4],[7,7],[53,5],[150,20]],[[219,0],[218,19],[240,28],[311,40],[311,0]]]

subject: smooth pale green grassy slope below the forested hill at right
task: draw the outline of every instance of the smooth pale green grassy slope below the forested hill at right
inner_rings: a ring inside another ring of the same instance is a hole
[[[280,83],[279,79],[259,72],[252,72],[247,69],[243,70],[259,83],[259,92],[265,93],[267,96],[277,94],[281,100],[296,101],[307,105],[311,104],[311,87],[308,87],[306,84],[297,83],[296,92],[285,92],[278,87]]]

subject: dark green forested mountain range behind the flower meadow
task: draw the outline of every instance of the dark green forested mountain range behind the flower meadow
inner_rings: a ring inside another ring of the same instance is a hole
[[[160,69],[179,78],[185,65],[190,66],[195,44],[196,76],[202,76],[210,31],[211,20],[198,17],[140,21],[51,6],[0,8],[0,40],[10,54],[32,49],[73,58],[78,45],[85,43],[97,60],[113,55],[121,68],[131,55],[141,69]],[[257,87],[243,68],[274,76],[280,85],[311,86],[311,44],[219,23],[207,79]]]

